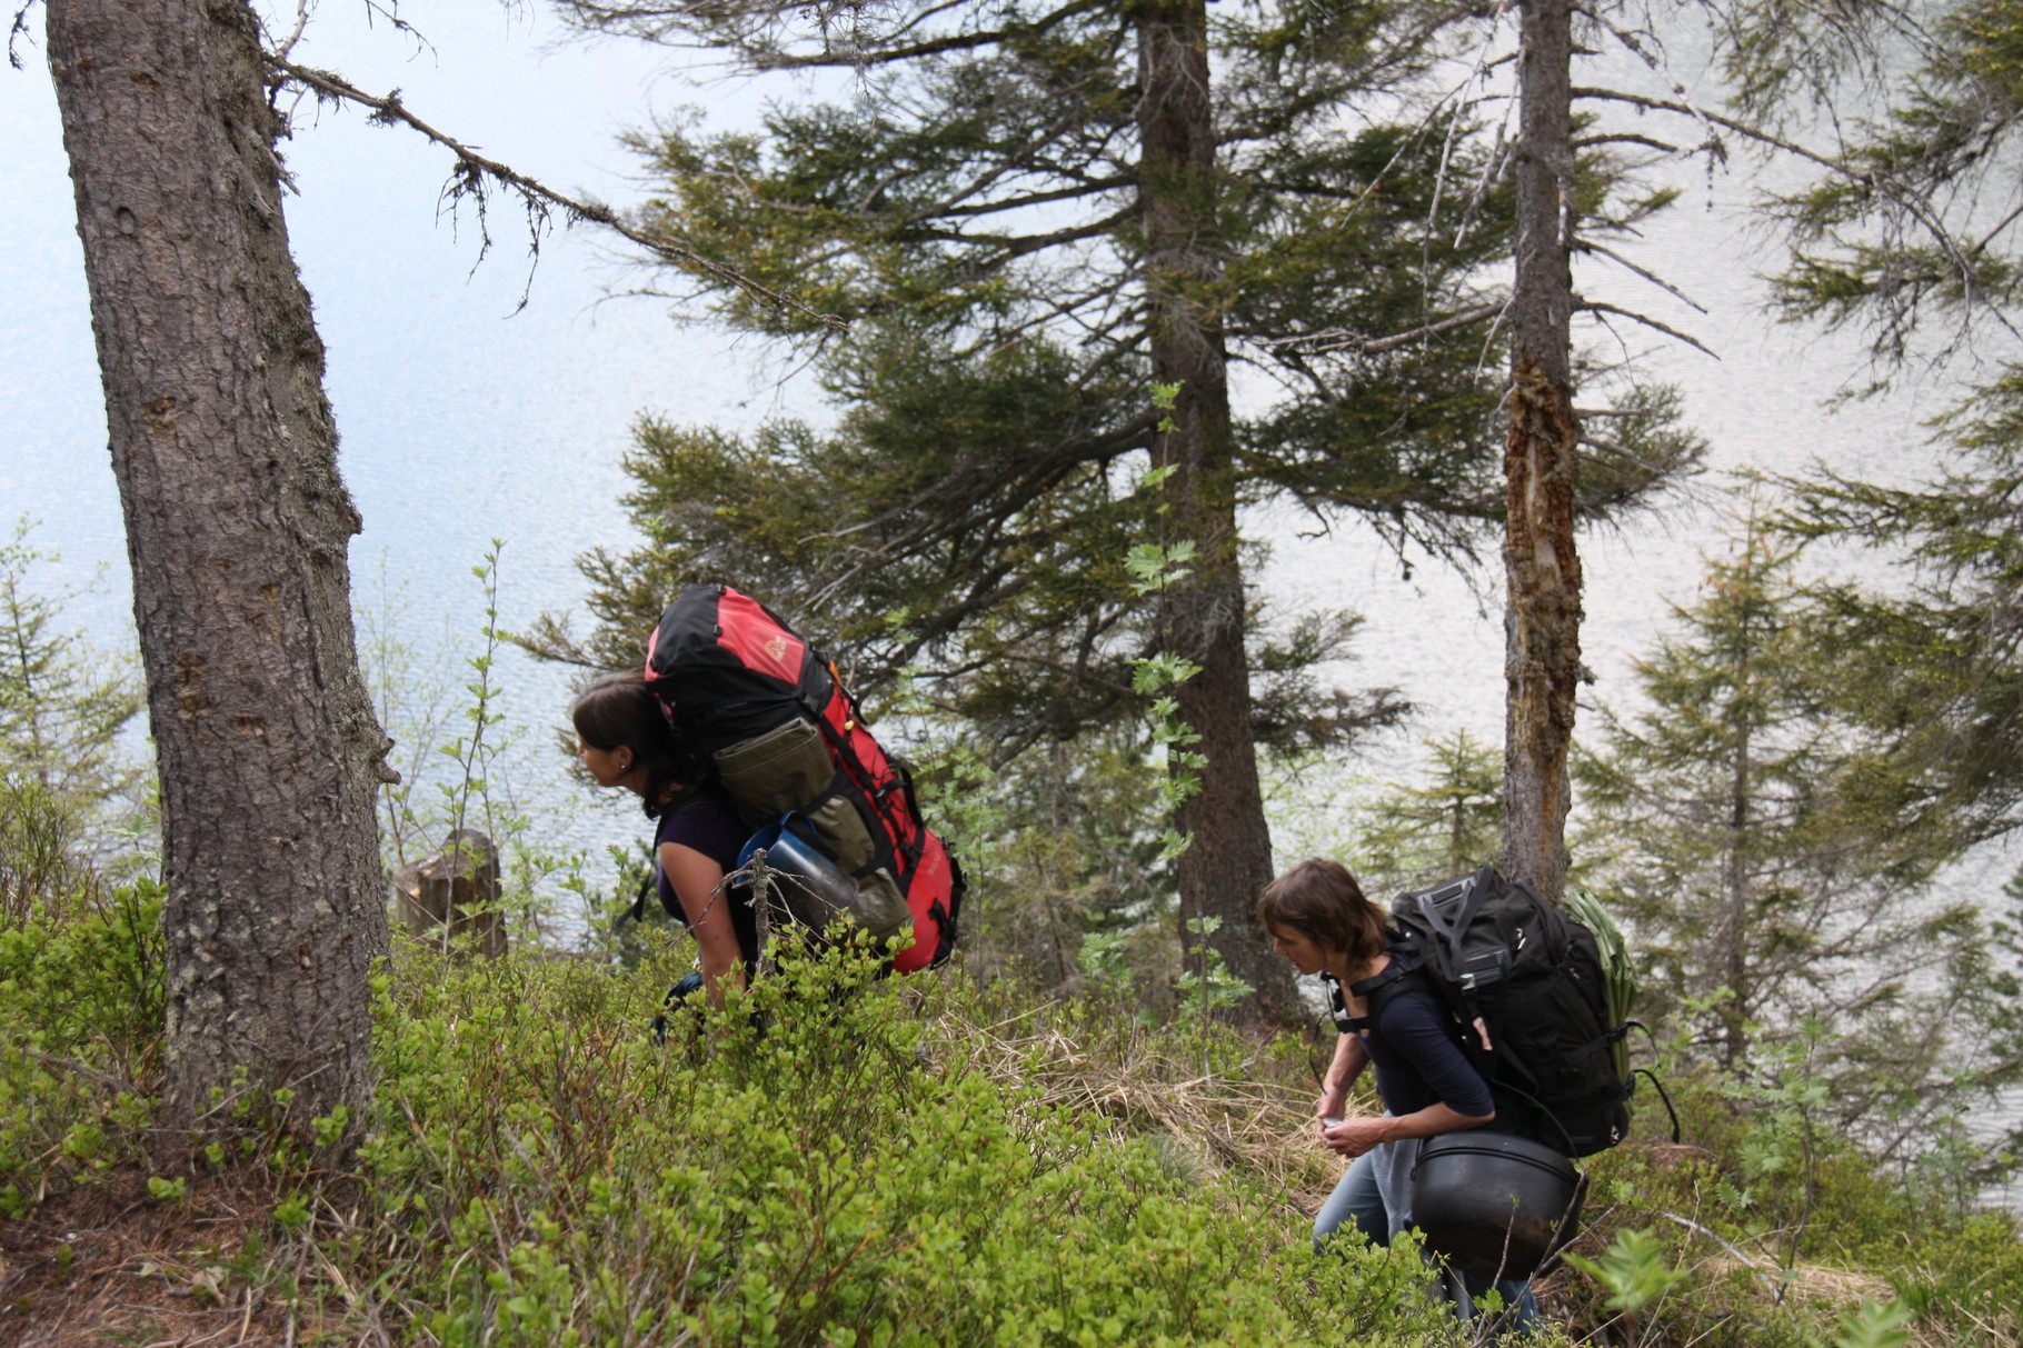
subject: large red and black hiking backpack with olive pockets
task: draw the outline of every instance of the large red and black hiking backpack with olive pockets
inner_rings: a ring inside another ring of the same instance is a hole
[[[880,749],[835,664],[728,585],[690,585],[647,644],[645,682],[676,733],[716,765],[757,824],[811,840],[856,880],[852,915],[874,937],[908,921],[900,974],[955,949],[963,872],[920,818],[906,765]],[[825,913],[789,909],[821,927]]]

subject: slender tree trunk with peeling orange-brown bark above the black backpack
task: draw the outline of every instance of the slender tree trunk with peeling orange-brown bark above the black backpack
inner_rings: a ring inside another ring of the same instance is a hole
[[[1568,0],[1525,0],[1517,59],[1517,281],[1511,429],[1503,449],[1503,870],[1566,887],[1566,755],[1580,686],[1578,427],[1572,391],[1572,24]]]

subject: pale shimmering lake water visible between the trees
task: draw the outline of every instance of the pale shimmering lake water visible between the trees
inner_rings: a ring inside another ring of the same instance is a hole
[[[407,16],[433,51],[415,55],[399,34],[330,18],[312,28],[307,59],[366,89],[399,87],[425,119],[564,190],[625,200],[633,184],[613,136],[647,109],[700,103],[730,121],[753,113],[740,87],[686,85],[651,53],[554,47],[538,18]],[[1689,69],[1663,79],[1618,73],[1659,93],[1673,81],[1695,85]],[[131,611],[123,538],[55,103],[34,63],[0,77],[0,128],[8,142],[0,164],[8,200],[0,522],[42,520],[36,540],[63,551],[55,581],[89,583],[105,569],[75,615],[111,644]],[[481,617],[469,569],[492,538],[504,540],[506,627],[542,609],[579,607],[575,559],[631,544],[615,500],[627,486],[619,455],[641,411],[724,427],[821,415],[805,387],[779,383],[781,370],[759,346],[678,326],[664,302],[605,300],[637,277],[595,239],[552,237],[530,269],[524,237],[502,213],[492,223],[494,255],[473,269],[471,221],[437,219],[447,164],[413,136],[324,111],[320,121],[305,119],[287,154],[301,184],[289,225],[330,346],[344,474],[366,518],[352,551],[360,607],[388,615],[451,686],[461,682],[457,660],[473,650]],[[1920,423],[1946,405],[1944,387],[1908,383],[1841,415],[1821,411],[1861,378],[1859,342],[1768,326],[1756,271],[1772,265],[1774,251],[1740,210],[1750,188],[1732,176],[1709,180],[1699,168],[1683,170],[1679,184],[1685,198],[1653,223],[1635,255],[1705,306],[1703,314],[1606,263],[1580,273],[1588,296],[1645,310],[1718,354],[1633,326],[1602,334],[1618,354],[1641,354],[1679,383],[1689,419],[1713,445],[1713,472],[1681,500],[1584,542],[1592,696],[1616,706],[1633,700],[1631,658],[1671,601],[1691,601],[1703,557],[1726,549],[1724,508],[1736,498],[1722,472],[1796,472],[1823,457],[1845,474],[1914,478],[1928,468]],[[1274,549],[1260,585],[1277,605],[1349,607],[1368,617],[1343,678],[1394,684],[1422,706],[1406,735],[1343,765],[1345,777],[1402,777],[1420,739],[1453,729],[1489,743],[1501,737],[1499,577],[1469,581],[1420,559],[1404,579],[1368,530],[1347,524],[1313,538],[1303,532],[1307,520],[1274,508],[1254,512],[1248,528]],[[502,682],[520,735],[506,773],[558,842],[601,848],[633,838],[635,814],[601,808],[556,771],[548,745],[566,672],[506,652]],[[1331,850],[1341,799],[1339,785],[1309,781],[1301,799],[1279,802],[1281,850],[1289,858]],[[1989,852],[1954,882],[1978,891],[2011,870],[2007,854]],[[2023,1099],[2009,1113],[2023,1115]]]

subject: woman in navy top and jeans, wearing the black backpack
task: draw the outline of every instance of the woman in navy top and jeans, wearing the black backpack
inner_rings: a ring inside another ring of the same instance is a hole
[[[1258,921],[1272,949],[1301,974],[1319,974],[1329,988],[1341,1038],[1321,1081],[1315,1115],[1321,1142],[1351,1158],[1347,1174],[1321,1204],[1313,1243],[1353,1225],[1372,1243],[1388,1245],[1412,1225],[1412,1168],[1426,1138],[1481,1127],[1495,1119],[1489,1083],[1469,1063],[1453,1018],[1418,990],[1386,996],[1372,1016],[1370,992],[1396,978],[1380,907],[1364,897],[1347,866],[1305,860],[1272,880],[1258,899]],[[1349,1087],[1376,1063],[1382,1117],[1343,1117]],[[1473,1314],[1487,1279],[1450,1275],[1457,1314]],[[1499,1281],[1505,1326],[1537,1328],[1537,1301],[1525,1281]]]

